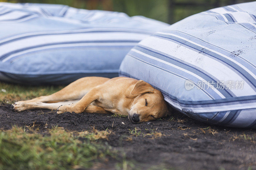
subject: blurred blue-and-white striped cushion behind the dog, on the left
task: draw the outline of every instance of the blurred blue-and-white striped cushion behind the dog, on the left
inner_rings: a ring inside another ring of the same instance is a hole
[[[119,12],[0,3],[0,80],[60,84],[116,77],[128,51],[166,26]]]

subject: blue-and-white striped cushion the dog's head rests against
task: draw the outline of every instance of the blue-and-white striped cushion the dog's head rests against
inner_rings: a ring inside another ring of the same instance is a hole
[[[143,79],[199,121],[256,128],[256,2],[185,18],[140,41],[120,76]]]

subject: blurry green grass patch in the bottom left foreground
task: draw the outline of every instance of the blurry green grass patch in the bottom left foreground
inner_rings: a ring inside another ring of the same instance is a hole
[[[90,168],[108,157],[115,159],[110,146],[94,141],[109,133],[70,132],[59,127],[46,134],[17,127],[0,130],[0,169]]]

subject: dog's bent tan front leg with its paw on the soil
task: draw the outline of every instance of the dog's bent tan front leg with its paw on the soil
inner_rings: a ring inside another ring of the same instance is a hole
[[[88,93],[84,95],[84,97],[79,100],[75,105],[64,105],[60,106],[57,110],[58,114],[64,112],[75,112],[75,113],[82,113],[86,107],[88,107],[94,100],[99,98],[98,92],[100,88],[93,88]]]

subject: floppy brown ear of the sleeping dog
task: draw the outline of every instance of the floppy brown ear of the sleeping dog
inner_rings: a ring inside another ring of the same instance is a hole
[[[152,93],[154,88],[143,80],[139,80],[133,87],[131,94]]]

